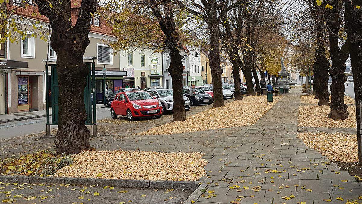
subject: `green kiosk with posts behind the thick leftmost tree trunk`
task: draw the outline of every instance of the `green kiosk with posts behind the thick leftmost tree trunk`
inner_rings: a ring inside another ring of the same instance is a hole
[[[92,125],[93,136],[97,136],[97,117],[96,117],[96,72],[94,60],[97,57],[84,57],[83,61],[88,66],[88,76],[85,79],[87,84],[84,89],[84,105],[87,113],[87,121],[85,125]],[[43,60],[43,62],[56,62],[56,59]],[[49,72],[50,71],[50,72]],[[46,135],[41,138],[53,137],[50,133],[51,125],[58,125],[58,74],[56,64],[45,65],[45,85],[46,90],[50,90],[50,94],[46,94]],[[51,122],[50,122],[51,107]]]

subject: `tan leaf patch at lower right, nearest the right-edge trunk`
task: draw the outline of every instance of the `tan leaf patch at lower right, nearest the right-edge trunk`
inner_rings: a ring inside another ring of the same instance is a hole
[[[310,148],[314,148],[330,160],[357,162],[357,136],[341,133],[298,133],[298,138]]]

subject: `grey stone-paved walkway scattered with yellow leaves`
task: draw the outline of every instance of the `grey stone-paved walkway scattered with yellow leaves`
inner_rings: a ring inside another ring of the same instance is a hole
[[[362,183],[296,137],[299,103],[299,89],[291,89],[252,126],[173,135],[133,135],[156,126],[151,124],[154,120],[132,125],[104,122],[100,129],[108,128],[110,133],[93,139],[91,144],[100,150],[205,153],[209,163],[205,166],[207,177],[201,182],[210,184],[199,193],[195,204],[319,204],[358,200]],[[52,141],[41,142],[43,147],[52,146]],[[0,142],[0,147],[4,145]],[[22,142],[24,145],[26,142]],[[31,150],[31,145],[23,150]],[[11,154],[13,149],[6,152]]]

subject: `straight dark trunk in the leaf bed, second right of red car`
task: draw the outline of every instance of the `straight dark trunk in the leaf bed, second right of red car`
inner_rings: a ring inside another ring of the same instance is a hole
[[[216,5],[215,5],[216,6]],[[220,42],[219,42],[219,24],[209,26],[210,29],[210,47],[209,61],[212,77],[212,89],[214,90],[214,105],[212,107],[225,106],[223,99],[223,87],[221,74],[223,69],[220,66]]]

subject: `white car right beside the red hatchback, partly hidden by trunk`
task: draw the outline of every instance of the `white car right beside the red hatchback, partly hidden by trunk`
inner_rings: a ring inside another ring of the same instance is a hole
[[[173,91],[172,89],[155,89],[149,90],[147,93],[151,94],[157,100],[162,103],[163,111],[173,110]],[[191,108],[190,99],[184,95],[185,110],[188,111]]]

